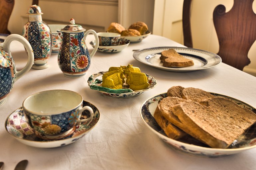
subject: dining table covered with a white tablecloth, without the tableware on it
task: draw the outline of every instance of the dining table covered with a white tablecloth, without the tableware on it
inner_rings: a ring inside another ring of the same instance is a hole
[[[89,52],[93,35],[86,37]],[[256,107],[256,77],[224,63],[188,72],[158,69],[134,59],[135,50],[154,47],[185,47],[171,39],[151,34],[140,42],[130,43],[117,53],[97,51],[91,58],[86,74],[79,78],[65,77],[58,65],[58,53],[52,53],[49,68],[30,69],[14,83],[13,89],[0,107],[0,162],[3,170],[14,169],[16,164],[28,160],[26,170],[254,170],[256,148],[216,158],[186,154],[170,147],[143,122],[140,107],[152,96],[166,93],[172,86],[194,87],[208,92],[230,96]],[[23,45],[11,43],[11,54],[16,69],[27,63]],[[127,99],[110,98],[88,86],[88,78],[109,67],[132,64],[141,72],[156,79],[157,85],[139,96]],[[88,134],[70,145],[40,148],[26,145],[11,136],[5,128],[7,117],[22,106],[30,95],[54,89],[79,93],[84,101],[96,106],[100,118]]]

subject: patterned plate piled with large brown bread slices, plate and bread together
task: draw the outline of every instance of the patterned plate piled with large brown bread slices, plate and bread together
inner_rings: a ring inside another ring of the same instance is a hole
[[[140,115],[164,142],[190,155],[220,157],[256,147],[256,109],[225,95],[173,86],[147,99]]]

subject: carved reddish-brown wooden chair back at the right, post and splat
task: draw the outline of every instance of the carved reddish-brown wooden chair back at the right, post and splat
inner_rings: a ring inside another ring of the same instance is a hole
[[[256,14],[252,10],[254,0],[234,0],[232,9],[226,13],[223,5],[213,11],[213,23],[219,41],[217,53],[223,63],[243,70],[250,64],[248,51],[256,40]],[[191,35],[191,3],[184,0],[183,34],[184,45],[193,47]]]

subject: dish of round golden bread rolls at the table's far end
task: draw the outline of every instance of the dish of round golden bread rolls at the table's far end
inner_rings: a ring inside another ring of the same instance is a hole
[[[121,34],[120,38],[127,39],[130,42],[141,42],[141,40],[151,34],[148,30],[148,25],[142,21],[132,23],[127,29],[120,23],[111,22],[107,32],[119,33]]]

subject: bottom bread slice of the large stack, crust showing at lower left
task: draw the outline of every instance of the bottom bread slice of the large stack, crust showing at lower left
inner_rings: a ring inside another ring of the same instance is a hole
[[[169,138],[177,140],[187,135],[184,131],[182,131],[181,129],[170,123],[168,120],[166,120],[161,115],[158,106],[156,107],[156,110],[154,112],[154,118],[157,121],[158,125],[164,130],[165,134]]]

